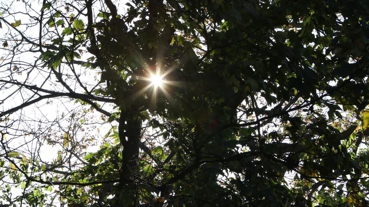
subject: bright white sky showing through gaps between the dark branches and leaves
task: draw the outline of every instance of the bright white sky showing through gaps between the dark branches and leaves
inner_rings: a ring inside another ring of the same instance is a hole
[[[7,4],[9,1],[5,1],[5,0],[1,0],[0,4]],[[118,3],[118,13],[125,13],[125,10],[127,8],[127,6],[125,6],[125,3],[127,1],[119,1]],[[32,2],[32,8],[34,9],[34,13],[38,13],[39,10],[41,10],[41,4],[39,4],[38,1],[34,1]],[[15,12],[20,12],[20,11],[24,11],[25,12],[25,7],[23,5],[23,3],[21,1],[14,1],[13,2],[13,6],[12,6],[13,10]],[[61,7],[61,10],[63,10],[64,8]],[[95,14],[97,14],[99,12],[99,9],[95,9]],[[35,14],[35,16],[37,16],[37,14]],[[27,27],[27,23],[30,23],[29,18],[24,15],[24,14],[15,14],[14,17],[10,17],[7,16],[7,14],[3,14],[3,17],[6,18],[7,21],[13,23],[16,20],[21,20],[22,24],[17,27],[17,29],[19,29],[20,31],[24,31]],[[83,17],[78,17],[81,18],[83,20]],[[45,19],[44,22],[46,22],[47,20]],[[44,27],[44,26],[42,26]],[[54,28],[49,28],[49,29],[54,29]],[[58,29],[58,32],[61,33],[62,32],[62,28]],[[16,44],[17,42],[11,41],[11,34],[14,34],[14,31],[8,32],[8,27],[6,25],[3,24],[3,29],[0,29],[0,31],[2,32],[3,36],[5,38],[1,39],[1,42],[5,41],[5,39],[8,39],[8,43],[9,44]],[[38,25],[34,25],[33,27],[29,27],[27,28],[27,31],[25,32],[26,35],[30,36],[30,37],[38,37],[38,32],[39,32],[39,26]],[[44,41],[45,43],[49,43],[50,40],[45,37],[42,41]],[[27,47],[27,46],[25,46]],[[206,49],[206,48],[205,48]],[[6,50],[0,50],[0,56],[5,56],[7,53]],[[18,69],[14,69],[14,66],[9,66],[7,64],[4,64],[6,62],[0,62],[0,79],[1,78],[5,78],[5,75],[9,75],[10,73],[11,76],[13,76],[14,79],[23,82],[25,79],[28,80],[28,83],[31,84],[35,84],[37,86],[40,86],[44,81],[45,78],[48,77],[49,74],[49,70],[46,68],[43,68],[42,70],[39,69],[31,69],[30,66],[25,66],[24,64],[33,64],[35,59],[39,56],[39,53],[24,53],[21,55],[17,55],[16,57],[16,61],[19,61],[20,64],[15,65],[17,66]],[[82,60],[86,60],[87,58],[89,58],[90,55],[88,55],[88,53],[83,53],[82,54]],[[38,62],[39,64],[41,64],[41,61]],[[75,65],[76,69],[79,70],[78,65]],[[22,71],[23,69],[25,69],[24,71]],[[63,68],[62,68],[63,69]],[[15,71],[13,71],[15,70]],[[27,71],[32,70],[31,73],[27,74]],[[64,68],[65,71],[68,71],[70,73],[70,70],[65,67]],[[14,73],[13,73],[13,72]],[[94,70],[85,70],[82,69],[82,71],[84,71],[83,74],[81,74],[80,79],[82,82],[85,83],[89,83],[89,84],[94,84],[96,83],[96,80],[100,79],[99,74],[96,73],[96,71]],[[28,77],[27,77],[28,76]],[[73,81],[71,79],[68,79],[68,77],[65,77],[65,80],[67,81],[67,83],[70,84],[70,86],[73,88],[75,87],[75,83],[73,83]],[[47,81],[45,82],[44,85],[45,88],[51,89],[51,90],[58,90],[58,91],[66,91],[65,88],[62,88],[60,84],[58,84],[56,82],[56,77],[54,75],[51,75],[50,77],[47,78]],[[7,97],[8,95],[10,95],[12,92],[16,91],[16,87],[12,87],[10,89],[7,90],[1,90],[0,94],[1,97]],[[78,90],[82,91],[81,88],[79,88]],[[23,94],[23,97],[21,96],[21,94]],[[23,102],[24,98],[29,97],[29,95],[27,95],[24,91],[17,91],[16,94],[14,94],[11,98],[7,99],[4,103],[2,103],[0,105],[1,110],[7,110],[9,108],[12,108],[14,106],[19,105],[20,103]],[[69,98],[63,98],[63,99],[58,99],[58,100],[53,100],[52,102],[49,102],[50,100],[44,100],[41,101],[39,103],[37,103],[36,105],[32,105],[32,106],[28,106],[27,108],[25,108],[24,110],[21,111],[22,115],[24,117],[27,117],[27,119],[29,120],[42,120],[44,122],[48,122],[48,124],[52,125],[54,124],[54,130],[59,130],[60,133],[56,133],[59,134],[59,140],[63,140],[63,136],[64,136],[64,132],[68,132],[68,126],[73,126],[73,124],[78,124],[82,122],[85,123],[89,123],[88,124],[88,131],[85,129],[84,131],[82,131],[81,129],[79,131],[76,131],[75,134],[70,134],[70,137],[75,141],[81,141],[81,140],[85,140],[91,136],[95,136],[96,141],[94,142],[94,145],[88,147],[86,149],[86,152],[94,152],[96,150],[99,149],[100,144],[102,144],[103,141],[103,137],[106,135],[106,133],[110,130],[111,125],[110,124],[99,124],[102,123],[103,120],[101,119],[100,113],[99,112],[95,112],[94,113],[90,113],[92,116],[84,116],[83,114],[79,115],[81,118],[78,120],[75,120],[75,117],[69,117],[70,114],[74,113],[74,112],[81,112],[82,110],[89,110],[89,106],[79,106],[76,105],[74,103],[74,100],[70,100]],[[108,111],[112,111],[112,106],[104,106],[104,109],[107,109]],[[16,112],[14,114],[12,114],[9,118],[10,121],[12,120],[12,117],[17,117],[20,115],[20,112]],[[241,115],[241,114],[239,114]],[[61,117],[62,120],[61,122],[59,122],[60,126],[57,125],[57,123],[55,122],[55,120],[60,119]],[[80,122],[80,120],[85,120]],[[98,123],[94,123],[94,122],[98,122]],[[0,123],[0,125],[3,125],[6,123]],[[116,124],[113,122],[113,124]],[[26,121],[23,123],[16,123],[14,124],[14,126],[17,126],[17,128],[14,127],[13,131],[8,131],[9,133],[13,133],[14,136],[11,136],[10,134],[7,134],[6,139],[7,140],[11,140],[9,142],[9,146],[11,147],[18,147],[21,146],[17,151],[30,151],[30,152],[35,152],[35,150],[38,147],[41,147],[41,159],[45,162],[52,162],[54,159],[57,158],[58,156],[58,151],[63,151],[65,153],[65,155],[68,155],[68,153],[65,152],[65,147],[63,147],[63,145],[55,145],[52,146],[50,144],[45,144],[45,143],[38,143],[37,141],[31,141],[34,140],[35,137],[33,136],[29,136],[27,134],[24,134],[24,132],[15,132],[17,131],[17,129],[19,128],[23,128],[26,131],[42,131],[43,129],[40,129],[40,125],[37,121]],[[19,127],[19,128],[18,128]],[[271,130],[271,129],[268,129]],[[148,129],[148,131],[150,131],[150,133],[156,133],[154,129]],[[23,134],[22,134],[23,133]],[[56,137],[54,137],[56,139]],[[27,145],[23,145],[24,143],[28,143]],[[29,159],[30,157],[32,157],[31,154],[25,154],[25,156]],[[34,158],[33,158],[34,159]],[[76,160],[76,159],[75,159]],[[294,176],[294,173],[292,174],[286,174],[285,175],[286,178],[288,177],[292,177]],[[288,181],[288,182],[291,182]]]

